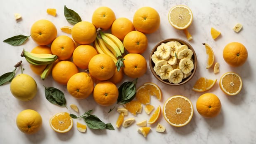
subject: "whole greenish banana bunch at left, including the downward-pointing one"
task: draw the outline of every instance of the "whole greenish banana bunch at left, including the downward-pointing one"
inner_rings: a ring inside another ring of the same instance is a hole
[[[48,77],[53,68],[53,62],[55,62],[55,60],[58,58],[53,54],[31,53],[29,51],[25,51],[25,49],[23,49],[20,56],[25,57],[26,61],[31,65],[47,65],[45,70],[43,70],[42,74],[40,75],[41,79],[43,80]]]

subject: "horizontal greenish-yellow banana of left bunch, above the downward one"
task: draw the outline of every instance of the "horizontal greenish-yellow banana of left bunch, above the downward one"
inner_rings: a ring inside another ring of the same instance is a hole
[[[48,65],[53,63],[58,58],[53,54],[31,53],[25,51],[25,49],[23,49],[21,56],[25,57],[25,59],[32,65]]]

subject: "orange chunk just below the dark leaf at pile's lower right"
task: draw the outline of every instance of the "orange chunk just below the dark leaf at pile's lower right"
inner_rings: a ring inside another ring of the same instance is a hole
[[[124,104],[124,107],[134,116],[136,116],[138,113],[141,113],[142,110],[141,102],[137,100],[132,100],[131,102]]]

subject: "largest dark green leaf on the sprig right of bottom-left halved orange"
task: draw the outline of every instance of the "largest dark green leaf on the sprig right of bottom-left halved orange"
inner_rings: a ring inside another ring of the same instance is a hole
[[[95,115],[89,115],[86,118],[84,118],[84,121],[86,122],[87,126],[91,129],[105,129],[106,125],[102,121],[100,121],[100,118],[98,118]]]

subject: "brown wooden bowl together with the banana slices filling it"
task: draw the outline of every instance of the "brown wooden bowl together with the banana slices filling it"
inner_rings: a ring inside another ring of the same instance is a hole
[[[188,42],[170,38],[159,42],[152,49],[149,66],[156,79],[164,84],[179,86],[194,76],[197,57]]]

